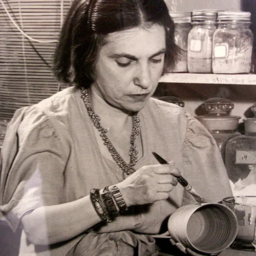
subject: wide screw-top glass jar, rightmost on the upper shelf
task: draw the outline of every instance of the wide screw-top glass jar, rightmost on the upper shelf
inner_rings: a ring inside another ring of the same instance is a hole
[[[212,39],[213,73],[250,73],[253,47],[250,16],[250,12],[218,13],[218,28]]]

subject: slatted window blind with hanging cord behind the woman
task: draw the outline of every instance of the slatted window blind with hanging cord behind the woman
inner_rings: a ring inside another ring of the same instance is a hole
[[[63,88],[51,65],[72,0],[0,1],[0,119],[9,120]]]

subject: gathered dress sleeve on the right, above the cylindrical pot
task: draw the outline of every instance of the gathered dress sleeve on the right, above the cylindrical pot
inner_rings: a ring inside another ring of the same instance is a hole
[[[208,130],[184,111],[187,118],[183,142],[184,177],[208,202],[232,196],[219,147]]]

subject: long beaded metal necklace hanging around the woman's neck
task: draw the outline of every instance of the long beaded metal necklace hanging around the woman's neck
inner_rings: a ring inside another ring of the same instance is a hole
[[[131,168],[137,163],[138,161],[138,151],[136,150],[136,145],[135,145],[135,140],[139,135],[139,116],[137,113],[133,113],[132,115],[132,121],[133,121],[133,129],[131,133],[131,147],[130,147],[130,163],[126,163],[123,158],[120,156],[120,154],[116,151],[114,145],[111,143],[109,140],[108,136],[106,136],[106,133],[108,130],[104,129],[101,124],[100,124],[100,117],[95,114],[91,101],[89,99],[89,94],[88,90],[82,88],[82,100],[84,102],[84,105],[86,106],[88,115],[91,117],[91,120],[96,127],[96,129],[100,132],[100,137],[103,140],[103,144],[108,148],[111,156],[113,157],[114,161],[118,164],[118,166],[123,170],[123,172],[126,175],[130,175],[131,173]],[[133,168],[132,168],[133,169]],[[134,170],[134,169],[133,169]]]

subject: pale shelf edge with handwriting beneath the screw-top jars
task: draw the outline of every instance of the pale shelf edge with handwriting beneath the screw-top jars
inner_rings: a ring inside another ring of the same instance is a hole
[[[256,85],[256,74],[168,73],[161,77],[160,82]]]

